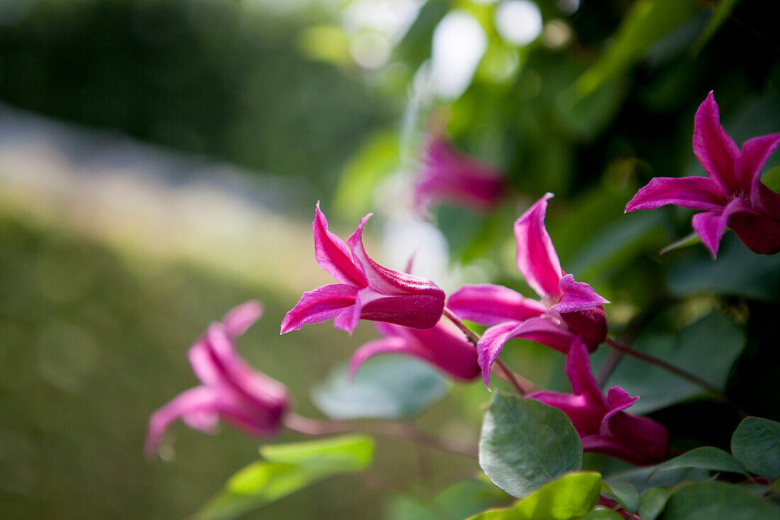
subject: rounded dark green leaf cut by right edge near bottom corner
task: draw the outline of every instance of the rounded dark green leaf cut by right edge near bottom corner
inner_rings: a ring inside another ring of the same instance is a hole
[[[780,477],[780,422],[748,417],[732,436],[732,454],[750,472],[770,481]]]

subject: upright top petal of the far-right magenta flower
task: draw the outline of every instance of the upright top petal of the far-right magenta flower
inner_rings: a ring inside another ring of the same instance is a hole
[[[696,112],[693,152],[710,178],[718,183],[725,193],[739,191],[734,170],[734,163],[739,157],[739,147],[721,126],[718,104],[712,92],[707,94],[707,99]]]

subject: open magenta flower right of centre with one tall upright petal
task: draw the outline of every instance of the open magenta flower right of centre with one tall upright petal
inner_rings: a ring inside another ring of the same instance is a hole
[[[558,254],[544,228],[545,194],[515,223],[517,267],[541,301],[497,285],[466,285],[449,297],[447,305],[459,318],[491,326],[477,344],[486,385],[493,362],[512,338],[533,340],[564,354],[572,340],[582,337],[590,350],[607,336],[602,304],[609,303],[587,283],[561,269]]]

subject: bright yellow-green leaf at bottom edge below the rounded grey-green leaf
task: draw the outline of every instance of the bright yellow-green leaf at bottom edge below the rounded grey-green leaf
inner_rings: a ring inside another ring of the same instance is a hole
[[[571,520],[593,509],[601,493],[601,475],[570,473],[545,484],[502,511],[486,511],[472,520]]]

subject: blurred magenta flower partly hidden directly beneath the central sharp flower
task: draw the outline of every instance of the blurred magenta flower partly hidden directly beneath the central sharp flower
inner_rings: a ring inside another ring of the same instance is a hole
[[[368,358],[392,353],[420,358],[460,381],[470,381],[480,374],[473,344],[450,322],[441,320],[431,329],[410,329],[389,323],[376,326],[384,337],[369,341],[355,351],[349,362],[350,378],[354,378]]]

